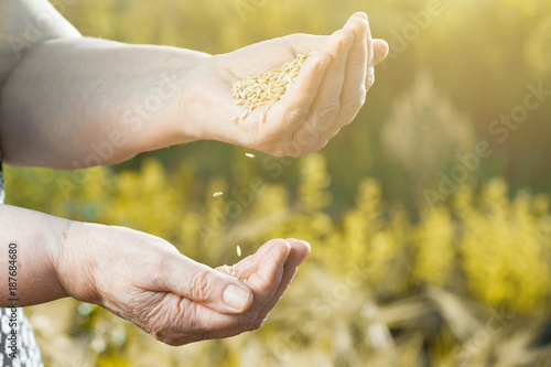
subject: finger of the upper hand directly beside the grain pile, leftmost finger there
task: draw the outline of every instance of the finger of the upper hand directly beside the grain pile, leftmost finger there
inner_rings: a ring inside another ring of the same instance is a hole
[[[323,52],[306,60],[289,93],[280,102],[273,105],[267,115],[268,121],[271,116],[281,117],[279,123],[270,122],[277,127],[278,132],[292,132],[304,121],[329,63],[329,55]]]

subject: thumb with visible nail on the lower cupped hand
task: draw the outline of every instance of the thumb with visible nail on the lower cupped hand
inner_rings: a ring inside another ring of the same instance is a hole
[[[242,313],[252,303],[244,283],[182,253],[173,255],[164,268],[164,289],[214,311]]]

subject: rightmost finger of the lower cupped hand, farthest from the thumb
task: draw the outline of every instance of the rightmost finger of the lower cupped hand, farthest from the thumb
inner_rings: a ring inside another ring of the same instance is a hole
[[[296,239],[288,239],[291,245],[291,251],[287,259],[287,262],[283,267],[283,277],[281,279],[281,283],[271,298],[271,300],[263,306],[263,309],[258,314],[258,322],[262,323],[267,317],[270,311],[278,304],[278,302],[285,293],[289,284],[293,280],[296,274],[299,266],[304,261],[304,259],[309,256],[311,251],[311,246],[306,241],[296,240]]]

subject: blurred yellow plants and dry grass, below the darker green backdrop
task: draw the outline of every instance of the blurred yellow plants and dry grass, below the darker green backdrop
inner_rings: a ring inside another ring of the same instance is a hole
[[[137,172],[89,170],[84,185],[75,184],[72,172],[8,169],[8,187],[18,187],[12,204],[122,223],[210,266],[235,261],[237,239],[245,253],[276,236],[313,245],[289,294],[259,332],[173,348],[100,307],[62,300],[30,310],[44,359],[50,366],[544,365],[547,196],[520,193],[509,202],[505,182],[496,179],[477,195],[463,186],[455,206],[412,222],[367,179],[356,206],[334,219],[324,213],[331,176],[323,155],[302,158],[299,166],[304,195],[292,202],[285,188],[266,184],[231,220],[227,205],[236,198],[197,197],[186,171],[169,174],[153,159]],[[60,185],[67,183],[74,186],[65,197]],[[224,180],[213,179],[208,187],[225,187]],[[255,218],[271,219],[249,227],[261,222]]]

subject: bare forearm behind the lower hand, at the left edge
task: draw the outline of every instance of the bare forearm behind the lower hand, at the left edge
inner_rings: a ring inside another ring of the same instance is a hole
[[[67,296],[51,252],[62,248],[68,226],[67,219],[0,205],[0,306],[13,302],[25,306]]]

